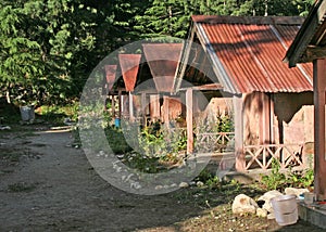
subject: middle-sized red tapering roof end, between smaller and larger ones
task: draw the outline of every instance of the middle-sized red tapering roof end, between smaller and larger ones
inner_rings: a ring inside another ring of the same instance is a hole
[[[140,54],[118,54],[126,91],[134,91],[140,64]]]

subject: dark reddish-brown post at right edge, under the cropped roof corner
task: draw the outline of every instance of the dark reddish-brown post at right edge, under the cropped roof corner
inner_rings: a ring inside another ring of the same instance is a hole
[[[317,201],[326,199],[325,162],[325,87],[326,60],[315,60],[314,65],[314,192]]]

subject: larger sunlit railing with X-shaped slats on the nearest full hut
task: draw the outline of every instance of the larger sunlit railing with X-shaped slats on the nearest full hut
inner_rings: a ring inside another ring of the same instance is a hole
[[[265,144],[243,146],[246,170],[272,168],[273,158],[277,159],[280,168],[304,167],[302,162],[303,144]]]

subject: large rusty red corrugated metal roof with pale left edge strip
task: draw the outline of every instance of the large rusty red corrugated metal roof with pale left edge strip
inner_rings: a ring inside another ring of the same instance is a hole
[[[226,91],[312,90],[312,65],[289,69],[283,62],[303,18],[200,15],[192,21]]]

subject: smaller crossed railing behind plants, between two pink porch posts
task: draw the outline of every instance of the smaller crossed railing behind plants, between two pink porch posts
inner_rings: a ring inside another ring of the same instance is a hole
[[[204,132],[196,137],[196,150],[223,153],[234,150],[235,132]]]

